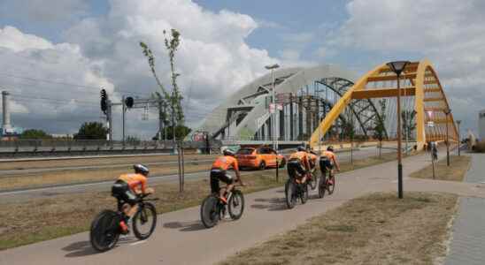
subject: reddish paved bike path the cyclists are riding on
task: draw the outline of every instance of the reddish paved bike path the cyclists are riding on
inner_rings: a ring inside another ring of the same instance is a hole
[[[485,188],[466,183],[407,178],[407,173],[429,163],[428,155],[404,160],[404,191],[452,192],[485,198]],[[241,220],[204,229],[199,208],[187,208],[161,216],[157,230],[147,241],[127,237],[112,251],[96,254],[88,233],[44,241],[0,252],[0,264],[213,264],[228,255],[288,231],[328,209],[365,193],[396,190],[396,162],[383,163],[339,174],[335,193],[324,199],[287,209],[283,189],[274,188],[245,196]],[[405,196],[405,193],[404,193]]]

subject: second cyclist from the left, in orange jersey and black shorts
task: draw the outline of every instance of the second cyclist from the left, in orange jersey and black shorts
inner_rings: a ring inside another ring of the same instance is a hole
[[[239,166],[237,160],[235,159],[235,153],[230,149],[225,149],[223,151],[223,156],[216,158],[214,163],[212,163],[211,170],[211,190],[212,193],[219,193],[219,199],[227,203],[226,193],[230,193],[234,187],[234,179],[226,173],[227,170],[235,170],[235,181],[245,186],[242,183],[241,174],[239,172]],[[226,188],[220,188],[219,180],[226,183]]]

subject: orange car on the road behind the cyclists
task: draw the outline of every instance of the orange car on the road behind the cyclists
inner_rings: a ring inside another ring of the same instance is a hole
[[[276,167],[276,159],[281,168],[286,164],[283,155],[277,154],[273,148],[267,147],[241,148],[235,153],[235,158],[240,168],[264,170],[266,167]]]

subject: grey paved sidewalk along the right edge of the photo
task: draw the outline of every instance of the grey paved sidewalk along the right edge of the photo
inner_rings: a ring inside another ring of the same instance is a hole
[[[483,186],[485,154],[469,154],[472,166],[466,182]],[[453,223],[450,254],[445,261],[454,264],[485,264],[485,199],[462,197]]]

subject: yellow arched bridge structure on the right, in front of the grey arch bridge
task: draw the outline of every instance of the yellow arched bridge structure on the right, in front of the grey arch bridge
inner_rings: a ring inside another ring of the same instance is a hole
[[[427,141],[445,140],[447,134],[450,141],[457,141],[458,131],[450,113],[450,105],[432,64],[426,59],[408,64],[401,74],[400,81],[404,112],[407,111],[401,115],[409,122],[408,133],[411,130],[413,132],[408,136],[416,141],[417,148],[423,148]],[[316,146],[320,140],[324,140],[325,136],[331,132],[331,128],[340,123],[338,121],[340,116],[348,111],[358,117],[358,124],[363,130],[372,130],[376,120],[381,120],[381,116],[388,117],[388,120],[384,122],[385,134],[390,139],[396,138],[396,123],[394,122],[396,111],[393,108],[396,104],[396,82],[396,74],[386,64],[381,64],[367,72],[351,86],[348,84],[348,88],[340,93],[338,101],[334,103],[333,108],[326,113],[312,133],[311,146]],[[375,105],[378,99],[384,99],[388,107],[390,106],[386,113],[376,110]],[[357,105],[360,105],[358,110],[356,110]],[[406,106],[408,110],[406,110]],[[370,124],[367,125],[367,123]],[[369,133],[364,134],[368,136]]]

